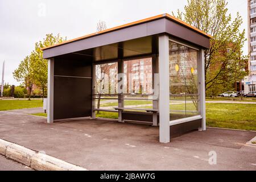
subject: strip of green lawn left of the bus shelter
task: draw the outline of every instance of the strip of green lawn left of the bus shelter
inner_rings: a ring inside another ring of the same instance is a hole
[[[0,111],[32,107],[43,107],[43,100],[0,100]]]

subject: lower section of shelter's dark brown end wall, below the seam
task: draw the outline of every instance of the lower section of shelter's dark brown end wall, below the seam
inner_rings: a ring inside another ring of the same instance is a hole
[[[54,83],[53,119],[91,116],[91,79],[55,76]]]

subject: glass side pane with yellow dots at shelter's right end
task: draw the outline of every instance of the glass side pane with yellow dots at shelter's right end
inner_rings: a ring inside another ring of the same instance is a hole
[[[170,42],[170,121],[199,115],[198,51]]]

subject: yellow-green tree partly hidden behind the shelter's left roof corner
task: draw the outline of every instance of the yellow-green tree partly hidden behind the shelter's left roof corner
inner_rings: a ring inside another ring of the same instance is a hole
[[[62,38],[59,34],[57,34],[57,36],[47,34],[43,41],[35,43],[35,50],[31,52],[30,60],[32,61],[31,66],[35,84],[42,89],[43,98],[47,88],[48,61],[43,59],[42,48],[59,44],[64,40],[67,40],[67,38]]]

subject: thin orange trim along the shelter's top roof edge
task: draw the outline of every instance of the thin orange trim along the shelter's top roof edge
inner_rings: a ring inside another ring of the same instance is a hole
[[[146,18],[146,19],[142,19],[142,20],[138,20],[136,22],[131,22],[131,23],[127,23],[127,24],[123,24],[121,26],[117,26],[117,27],[113,27],[113,28],[109,28],[109,29],[106,29],[104,31],[100,31],[100,32],[95,32],[93,34],[89,34],[89,35],[85,35],[85,36],[81,36],[79,38],[75,38],[75,39],[71,39],[71,40],[66,40],[62,43],[59,43],[59,44],[55,44],[53,46],[48,46],[48,47],[44,47],[44,48],[41,48],[42,50],[45,50],[45,49],[49,49],[49,48],[52,48],[52,47],[57,47],[57,46],[61,46],[63,44],[68,44],[68,43],[72,43],[72,42],[76,42],[77,40],[82,40],[82,39],[86,39],[86,38],[90,38],[92,36],[96,36],[96,35],[101,35],[101,34],[105,34],[105,33],[108,33],[108,32],[112,32],[112,31],[115,31],[115,30],[119,30],[121,28],[126,28],[126,27],[130,27],[130,26],[134,26],[136,24],[141,24],[141,23],[146,23],[146,22],[150,22],[152,20],[156,20],[156,19],[160,19],[160,18],[168,18],[168,19],[171,19],[171,20],[174,20],[175,22],[179,23],[179,24],[182,24],[183,26],[186,26],[188,28],[191,28],[192,30],[194,31],[197,31],[199,32],[200,34],[203,34],[204,36],[207,36],[208,38],[212,38],[212,36],[208,35],[207,33],[199,30],[198,28],[195,28],[191,25],[189,25],[188,23],[185,23],[183,22],[182,20],[180,19],[177,19],[175,18],[174,16],[171,16],[170,14],[161,14],[161,15],[156,15],[156,16],[152,16],[150,18]]]

